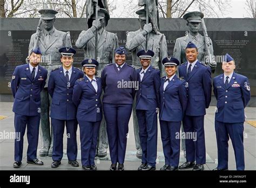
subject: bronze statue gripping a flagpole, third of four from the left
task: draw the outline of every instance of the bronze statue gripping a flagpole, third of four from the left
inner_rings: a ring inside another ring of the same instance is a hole
[[[153,51],[154,57],[151,59],[151,66],[159,69],[161,71],[161,75],[164,75],[165,71],[164,66],[161,64],[161,60],[167,57],[167,44],[164,34],[159,32],[157,1],[140,0],[139,6],[144,6],[144,9],[136,11],[137,15],[139,15],[140,29],[137,31],[131,31],[127,34],[125,47],[132,53],[132,65],[136,69],[142,67],[140,60],[137,57],[137,53],[140,50]],[[137,157],[141,158],[142,149],[139,141],[139,128],[135,110],[135,102],[133,102],[132,114]]]

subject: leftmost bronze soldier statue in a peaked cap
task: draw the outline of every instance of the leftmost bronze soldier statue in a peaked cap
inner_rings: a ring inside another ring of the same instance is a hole
[[[39,156],[52,155],[53,135],[52,127],[50,126],[49,111],[51,104],[51,96],[48,93],[48,80],[53,69],[62,65],[60,62],[59,48],[72,47],[69,32],[58,31],[55,29],[55,15],[58,13],[51,9],[42,9],[41,19],[37,27],[37,32],[32,34],[29,44],[29,54],[33,48],[39,47],[42,51],[41,65],[47,69],[48,76],[46,85],[41,92],[41,126],[40,135],[42,148],[39,151]],[[42,29],[41,29],[42,25]]]

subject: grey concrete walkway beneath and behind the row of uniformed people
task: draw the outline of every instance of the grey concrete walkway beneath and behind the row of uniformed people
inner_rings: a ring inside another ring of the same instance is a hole
[[[44,162],[42,166],[36,166],[26,163],[26,149],[28,147],[28,141],[24,138],[24,150],[22,166],[19,169],[12,168],[14,163],[14,140],[10,139],[8,135],[14,133],[14,113],[12,112],[12,102],[0,102],[0,116],[5,117],[0,120],[0,170],[82,170],[80,162],[80,138],[79,128],[77,131],[78,142],[78,162],[79,167],[75,168],[68,164],[68,158],[66,157],[66,136],[64,135],[64,156],[62,164],[57,169],[51,169],[52,159],[51,157],[39,157]],[[217,166],[217,143],[214,130],[214,110],[215,107],[207,109],[207,115],[205,116],[205,140],[206,140],[206,165],[205,170],[212,170]],[[245,109],[247,119],[246,121],[256,121],[256,108],[248,107]],[[126,157],[125,157],[125,170],[137,170],[141,164],[140,159],[136,157],[136,147],[133,134],[132,116],[129,123],[129,138],[127,139]],[[228,155],[228,169],[236,170],[234,151],[231,141],[228,142],[229,155]],[[256,170],[256,128],[248,123],[244,124],[244,146],[245,146],[245,169]],[[39,137],[38,152],[41,148],[41,138]],[[183,152],[180,153],[180,164],[185,162]],[[96,158],[96,165],[98,170],[109,170],[111,164],[109,154],[104,159]],[[158,123],[158,157],[157,157],[157,170],[164,165],[163,147],[160,137],[160,127]],[[189,169],[192,170],[192,169]]]

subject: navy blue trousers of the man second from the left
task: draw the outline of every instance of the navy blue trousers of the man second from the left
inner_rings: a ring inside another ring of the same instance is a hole
[[[61,161],[63,157],[63,134],[66,124],[67,148],[66,153],[70,161],[77,159],[77,120],[51,119],[53,129],[52,160]]]

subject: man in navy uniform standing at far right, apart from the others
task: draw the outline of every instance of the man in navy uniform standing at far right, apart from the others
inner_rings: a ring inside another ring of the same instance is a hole
[[[213,92],[217,99],[215,131],[218,147],[218,166],[213,170],[228,170],[228,140],[231,138],[237,170],[245,170],[244,121],[250,101],[248,79],[234,73],[235,62],[226,54],[222,64],[224,74],[213,79]]]

